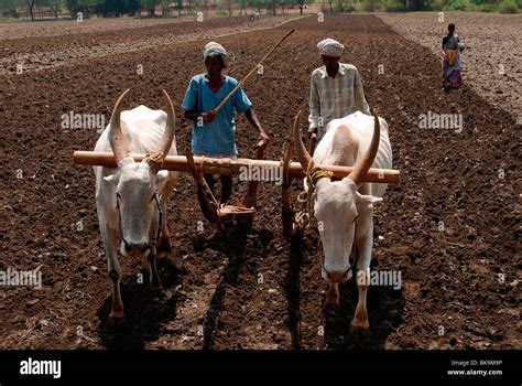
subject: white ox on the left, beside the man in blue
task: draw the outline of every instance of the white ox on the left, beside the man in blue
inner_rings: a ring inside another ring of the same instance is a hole
[[[159,171],[166,154],[177,154],[174,107],[170,96],[163,92],[167,114],[145,106],[121,111],[128,92],[116,103],[110,122],[95,147],[95,151],[112,151],[118,162],[118,169],[94,168],[99,227],[112,281],[111,319],[123,318],[118,240],[121,240],[123,256],[143,254],[148,257],[151,286],[161,288],[155,255],[156,248],[171,247],[164,214],[177,180],[175,172]],[[130,153],[151,156],[137,163]]]

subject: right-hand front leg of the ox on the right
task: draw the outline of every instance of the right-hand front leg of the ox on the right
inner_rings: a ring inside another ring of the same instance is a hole
[[[361,244],[357,243],[359,256],[357,260],[357,288],[359,290],[359,299],[357,301],[356,312],[351,320],[351,329],[355,333],[360,335],[368,335],[370,333],[370,323],[368,321],[367,311],[367,293],[370,285],[370,261],[371,261],[371,237],[368,239],[363,237]]]

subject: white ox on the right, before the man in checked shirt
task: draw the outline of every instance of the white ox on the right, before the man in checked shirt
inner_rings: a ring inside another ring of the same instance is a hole
[[[339,303],[338,283],[351,278],[350,255],[356,251],[359,299],[351,321],[352,331],[368,334],[367,291],[373,244],[373,204],[382,201],[385,184],[361,183],[370,168],[391,169],[392,150],[384,119],[360,111],[328,124],[327,132],[314,151],[313,164],[354,167],[340,181],[316,174],[314,215],[319,224],[324,260],[322,276],[329,282],[327,303]],[[296,152],[304,170],[311,156],[294,124]],[[312,165],[313,165],[312,164]]]

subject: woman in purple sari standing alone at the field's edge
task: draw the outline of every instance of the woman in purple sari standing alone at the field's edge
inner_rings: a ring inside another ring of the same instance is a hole
[[[460,43],[458,35],[455,33],[455,24],[448,25],[448,34],[443,37],[443,87],[445,90],[449,88],[458,88],[463,83],[460,52],[464,44]]]

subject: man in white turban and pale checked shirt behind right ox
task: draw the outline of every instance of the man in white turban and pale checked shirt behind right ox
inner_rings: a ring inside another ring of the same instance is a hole
[[[309,88],[308,133],[323,138],[330,120],[356,111],[370,115],[356,66],[339,63],[345,46],[333,39],[317,43],[324,66],[314,69]]]

